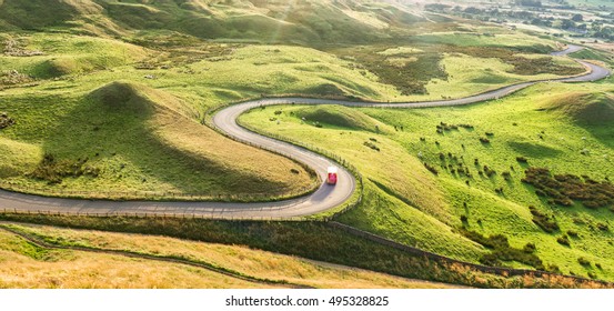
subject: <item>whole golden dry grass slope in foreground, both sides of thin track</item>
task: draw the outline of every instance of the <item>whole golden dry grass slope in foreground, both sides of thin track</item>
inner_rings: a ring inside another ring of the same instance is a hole
[[[87,251],[49,250],[0,230],[0,288],[450,288],[246,247],[191,242],[179,239],[77,231],[52,227],[8,225],[47,243],[115,250],[188,262],[205,262],[241,275],[286,284],[245,281],[205,269],[151,259]],[[85,273],[87,271],[87,273]],[[39,277],[40,275],[40,277]]]

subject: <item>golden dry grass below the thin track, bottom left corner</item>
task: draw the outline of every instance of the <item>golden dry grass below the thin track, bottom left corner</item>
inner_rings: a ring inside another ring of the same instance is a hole
[[[120,255],[53,251],[37,260],[7,244],[24,243],[0,232],[0,288],[42,289],[155,289],[155,288],[266,288],[203,269]]]

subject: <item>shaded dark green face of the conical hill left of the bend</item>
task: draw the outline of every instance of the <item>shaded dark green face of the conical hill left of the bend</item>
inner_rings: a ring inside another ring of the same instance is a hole
[[[115,84],[111,87],[117,88]],[[81,104],[60,119],[43,143],[44,152],[71,161],[88,158],[89,164],[109,162],[111,164],[105,165],[99,178],[117,180],[113,182],[120,184],[118,188],[127,181],[127,175],[135,174],[135,178],[129,178],[132,187],[148,190],[158,189],[147,187],[147,179],[194,194],[275,195],[289,190],[289,185],[282,182],[265,180],[165,143],[155,134],[161,130],[154,127],[157,113],[173,113],[173,119],[184,119],[184,122],[192,120],[179,113],[162,112],[163,108],[155,108],[147,98],[132,93],[130,87],[111,91],[115,92],[102,98],[84,97]],[[199,143],[202,148],[215,148],[208,144],[205,138]],[[130,168],[135,169],[129,172]],[[134,181],[142,182],[142,185],[134,185]]]

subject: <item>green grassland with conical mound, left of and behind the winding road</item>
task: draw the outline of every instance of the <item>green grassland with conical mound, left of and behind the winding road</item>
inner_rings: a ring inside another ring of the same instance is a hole
[[[3,34],[11,43],[0,56],[8,69],[0,79],[4,88],[0,111],[17,121],[0,132],[4,184],[56,194],[104,190],[117,192],[109,194],[113,198],[139,198],[142,191],[218,200],[295,195],[314,187],[308,171],[198,124],[205,110],[281,94],[440,99],[554,77],[513,73],[515,67],[503,59],[483,59],[466,50],[469,54],[443,53],[441,62],[420,60],[416,70],[422,71],[405,70],[410,76],[389,77],[389,81],[382,77],[392,71],[372,72],[364,68],[366,60],[341,59],[309,48],[181,37],[164,47],[153,40],[160,33],[151,36],[149,48],[142,48],[70,34]],[[422,58],[426,48],[387,46],[365,51],[379,51],[378,61],[397,71],[395,66],[411,66],[411,54],[422,53]],[[556,63],[573,66],[565,59]],[[445,80],[429,73],[439,67],[445,68]],[[431,77],[421,78],[427,93],[402,94],[396,84],[419,72]],[[290,173],[294,171],[299,173]]]

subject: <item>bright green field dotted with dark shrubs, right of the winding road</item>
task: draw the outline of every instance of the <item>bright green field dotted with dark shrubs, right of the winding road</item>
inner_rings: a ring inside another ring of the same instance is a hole
[[[607,205],[588,209],[577,201],[572,207],[552,205],[547,198],[537,197],[532,185],[521,182],[530,165],[596,181],[613,177],[612,131],[605,121],[612,118],[612,90],[607,82],[543,83],[511,98],[469,107],[331,110],[298,106],[275,109],[282,111],[280,124],[269,121],[273,109],[254,110],[242,117],[242,122],[301,139],[356,165],[369,180],[365,202],[341,217],[345,223],[482,262],[491,250],[463,232],[504,234],[512,249],[535,244],[542,269],[612,280],[614,248],[606,229],[612,215]],[[325,110],[351,116],[343,118],[356,123],[371,120],[370,126],[339,123],[341,116],[316,113]],[[301,116],[309,118],[303,122]],[[481,138],[490,142],[481,142]],[[529,164],[519,162],[517,157],[526,158]],[[542,230],[530,205],[554,215],[560,229]],[[557,242],[564,235],[571,239],[571,247]],[[580,263],[581,258],[591,264]],[[531,265],[523,260],[502,261],[512,267]]]

